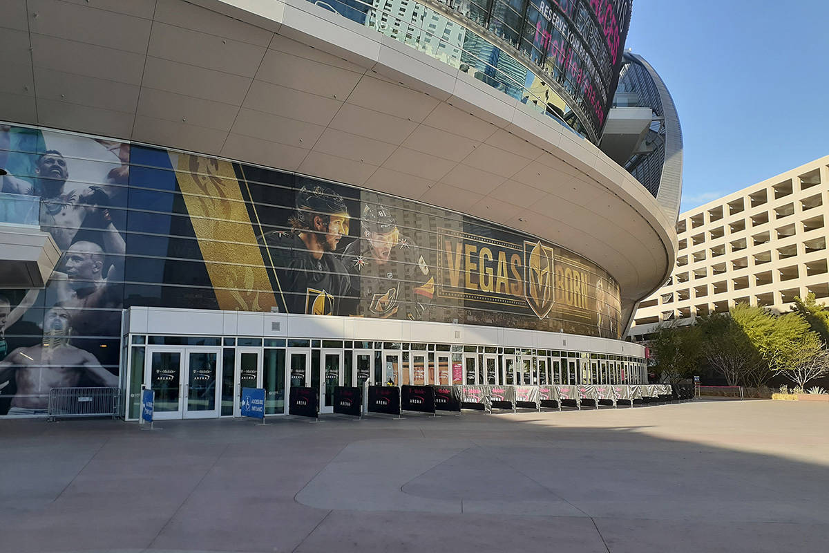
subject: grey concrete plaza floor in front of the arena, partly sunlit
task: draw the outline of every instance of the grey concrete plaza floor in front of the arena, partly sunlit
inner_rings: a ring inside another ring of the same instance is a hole
[[[0,551],[829,551],[829,404],[0,422]]]

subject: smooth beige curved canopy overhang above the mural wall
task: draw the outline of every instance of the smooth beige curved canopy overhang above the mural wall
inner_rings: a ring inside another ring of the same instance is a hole
[[[0,119],[258,163],[510,226],[607,269],[623,318],[674,263],[672,222],[592,143],[311,2],[2,3]]]

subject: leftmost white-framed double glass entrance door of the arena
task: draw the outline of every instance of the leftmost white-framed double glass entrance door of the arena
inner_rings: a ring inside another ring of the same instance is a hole
[[[144,383],[155,391],[156,420],[219,416],[221,350],[148,347]]]

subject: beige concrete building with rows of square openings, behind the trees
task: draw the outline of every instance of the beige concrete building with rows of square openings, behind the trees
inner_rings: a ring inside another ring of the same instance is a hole
[[[736,303],[788,311],[795,297],[829,298],[829,157],[685,211],[667,284],[639,303],[630,335],[687,324]]]

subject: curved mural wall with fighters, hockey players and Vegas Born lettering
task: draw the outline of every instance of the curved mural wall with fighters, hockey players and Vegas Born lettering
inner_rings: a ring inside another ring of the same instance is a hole
[[[0,290],[0,415],[117,386],[121,310],[412,319],[618,338],[618,284],[579,255],[434,206],[262,167],[0,125],[0,215],[64,252]],[[27,207],[28,206],[28,207]],[[2,270],[2,266],[0,266]]]

